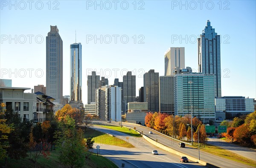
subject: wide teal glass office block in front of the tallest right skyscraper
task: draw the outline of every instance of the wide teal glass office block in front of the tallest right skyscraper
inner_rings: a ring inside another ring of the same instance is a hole
[[[175,115],[191,115],[209,123],[215,120],[215,74],[189,73],[174,75]]]

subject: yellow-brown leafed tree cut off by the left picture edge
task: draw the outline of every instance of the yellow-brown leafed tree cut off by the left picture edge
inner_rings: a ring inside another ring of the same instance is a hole
[[[0,160],[6,157],[6,149],[9,147],[8,134],[12,132],[12,125],[6,124],[5,109],[6,104],[1,103],[0,105]]]

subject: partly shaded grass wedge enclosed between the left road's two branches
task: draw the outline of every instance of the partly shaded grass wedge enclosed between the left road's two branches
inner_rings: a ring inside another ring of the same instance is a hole
[[[93,137],[93,140],[95,141],[95,145],[114,145],[114,146],[121,146],[125,148],[134,148],[131,143],[128,143],[126,139],[119,139],[117,137],[112,137],[108,134],[104,134],[102,132],[98,132],[94,129],[87,129],[87,131],[84,133],[84,138]]]

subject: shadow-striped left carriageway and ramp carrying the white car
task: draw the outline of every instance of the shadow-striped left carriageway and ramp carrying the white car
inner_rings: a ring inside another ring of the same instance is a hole
[[[135,148],[125,148],[119,146],[111,146],[104,144],[94,144],[100,146],[99,154],[107,157],[116,165],[121,167],[122,163],[125,163],[125,168],[203,168],[205,166],[196,162],[182,163],[180,162],[180,156],[164,151],[155,147],[151,143],[148,143],[142,137],[132,137],[122,132],[117,132],[112,129],[103,128],[100,126],[92,126],[92,129],[96,129],[100,132],[113,134],[119,139],[125,140]],[[157,150],[158,155],[152,155],[151,151]],[[97,153],[96,149],[94,152]]]

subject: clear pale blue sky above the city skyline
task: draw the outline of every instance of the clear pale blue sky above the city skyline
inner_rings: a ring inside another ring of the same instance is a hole
[[[46,85],[46,36],[57,25],[63,95],[70,95],[70,44],[81,42],[84,104],[92,70],[109,84],[132,71],[139,96],[144,73],[164,76],[170,47],[185,47],[185,66],[198,72],[196,38],[207,20],[221,35],[221,95],[256,98],[255,0],[0,0],[0,78],[12,87]]]

